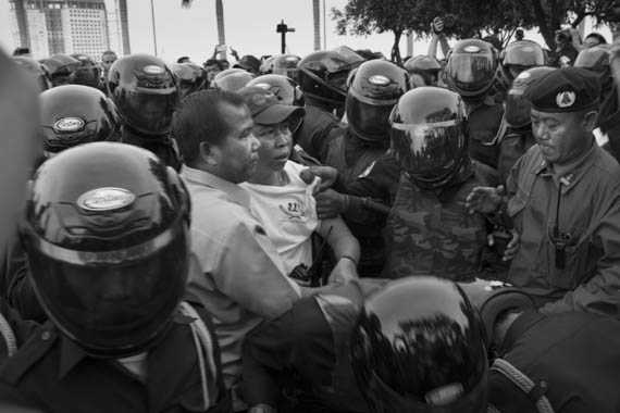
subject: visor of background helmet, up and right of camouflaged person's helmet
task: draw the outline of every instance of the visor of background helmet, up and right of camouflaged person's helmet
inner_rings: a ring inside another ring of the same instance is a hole
[[[480,91],[495,77],[493,58],[488,54],[460,53],[448,59],[447,73],[455,86],[464,91]]]

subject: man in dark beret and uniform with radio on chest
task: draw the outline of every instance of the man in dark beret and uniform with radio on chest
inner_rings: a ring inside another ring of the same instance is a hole
[[[599,105],[595,75],[554,71],[526,90],[536,146],[504,188],[474,188],[470,212],[511,218],[520,247],[508,280],[543,313],[619,315],[620,166],[593,136]]]

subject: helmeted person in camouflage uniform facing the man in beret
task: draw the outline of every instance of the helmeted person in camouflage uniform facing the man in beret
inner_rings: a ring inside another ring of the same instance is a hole
[[[487,221],[464,202],[495,172],[468,155],[464,107],[451,91],[407,92],[392,118],[392,149],[400,187],[387,218],[388,258],[383,275],[479,274],[486,254]]]

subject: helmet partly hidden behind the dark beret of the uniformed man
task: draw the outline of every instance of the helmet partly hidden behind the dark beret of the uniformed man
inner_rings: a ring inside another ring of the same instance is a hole
[[[530,112],[532,112],[532,102],[523,96],[523,92],[534,80],[540,79],[554,67],[541,66],[532,67],[521,72],[512,82],[512,87],[506,95],[506,110],[504,117],[506,124],[512,128],[521,128],[532,123]]]

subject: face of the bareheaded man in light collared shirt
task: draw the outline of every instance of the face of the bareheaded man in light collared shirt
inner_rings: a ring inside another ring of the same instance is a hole
[[[228,135],[214,148],[218,175],[233,184],[248,180],[257,170],[260,141],[252,134],[252,116],[247,107],[223,108]]]

